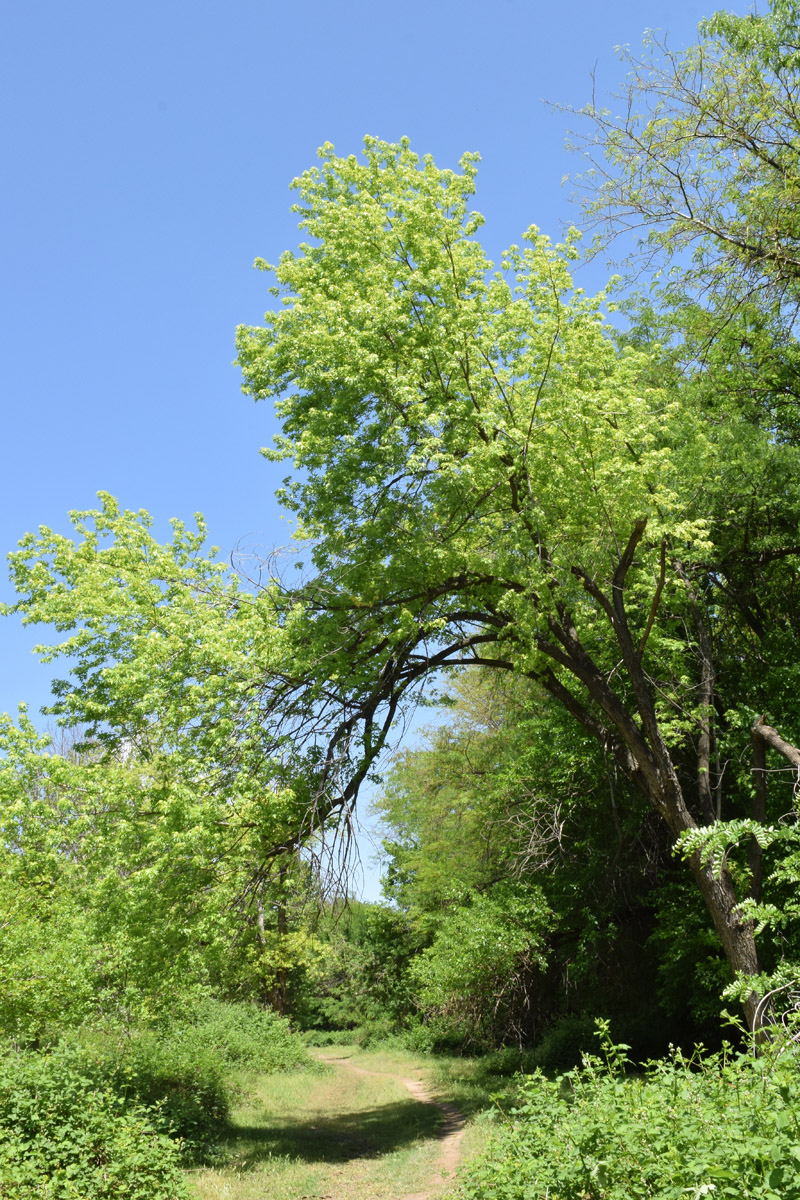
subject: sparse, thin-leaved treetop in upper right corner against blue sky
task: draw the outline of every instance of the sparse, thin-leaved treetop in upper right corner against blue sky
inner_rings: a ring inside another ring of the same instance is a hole
[[[648,35],[640,60],[625,54],[626,116],[585,110],[600,134],[589,212],[606,232],[643,216],[651,260],[684,254],[675,292],[680,278],[764,311],[796,286],[799,16],[796,0],[717,12],[682,52]]]

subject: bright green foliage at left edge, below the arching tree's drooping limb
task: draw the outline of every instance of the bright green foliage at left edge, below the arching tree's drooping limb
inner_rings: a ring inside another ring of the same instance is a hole
[[[148,1024],[211,988],[263,1002],[302,968],[303,931],[276,925],[308,870],[293,860],[253,888],[263,827],[241,794],[236,808],[191,784],[199,762],[55,754],[24,712],[0,718],[0,1030]]]

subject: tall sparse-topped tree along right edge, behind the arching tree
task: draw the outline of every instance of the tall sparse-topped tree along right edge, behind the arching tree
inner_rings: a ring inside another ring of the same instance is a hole
[[[716,638],[716,702],[720,719],[741,727],[741,757],[759,716],[752,902],[762,844],[772,844],[765,816],[770,806],[772,816],[792,808],[786,794],[775,806],[786,793],[776,778],[768,797],[765,748],[786,743],[764,737],[763,712],[795,743],[800,730],[799,28],[796,0],[771,0],[762,13],[715,13],[681,52],[649,38],[642,56],[626,55],[622,94],[584,110],[589,133],[579,137],[591,158],[584,199],[599,242],[613,250],[618,234],[633,233],[633,242],[622,239],[628,265],[650,280],[649,304],[631,306],[639,331],[668,343],[682,386],[710,420],[734,410],[768,433],[760,455],[735,461],[738,505],[727,480],[706,484],[716,554],[702,605],[705,624],[714,613],[726,630]],[[732,844],[740,832],[732,828]]]

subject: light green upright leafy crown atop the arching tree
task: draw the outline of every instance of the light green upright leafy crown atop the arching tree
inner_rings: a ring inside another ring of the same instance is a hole
[[[282,494],[318,570],[409,598],[391,632],[373,612],[371,636],[402,640],[411,614],[438,637],[447,602],[422,616],[410,598],[447,580],[492,581],[504,618],[540,628],[553,576],[607,574],[644,516],[648,545],[702,545],[684,475],[688,446],[693,478],[711,454],[703,426],[573,289],[576,235],[552,247],[531,228],[494,272],[470,156],[461,175],[405,143],[321,157],[295,184],[314,240],[273,269],[283,307],[240,329],[239,361],[246,391],[278,397],[273,455],[296,470]]]

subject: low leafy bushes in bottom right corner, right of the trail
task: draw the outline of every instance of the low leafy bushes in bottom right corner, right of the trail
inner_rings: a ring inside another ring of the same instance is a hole
[[[675,1052],[626,1078],[626,1049],[525,1081],[462,1196],[800,1200],[796,1060]]]

